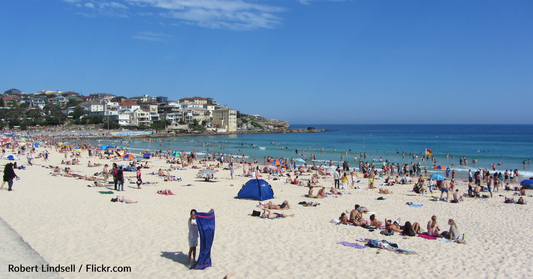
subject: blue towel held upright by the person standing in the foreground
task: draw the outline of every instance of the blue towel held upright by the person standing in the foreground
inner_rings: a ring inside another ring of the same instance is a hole
[[[211,246],[215,238],[215,212],[197,212],[196,223],[200,233],[200,255],[190,269],[206,269],[211,266]]]

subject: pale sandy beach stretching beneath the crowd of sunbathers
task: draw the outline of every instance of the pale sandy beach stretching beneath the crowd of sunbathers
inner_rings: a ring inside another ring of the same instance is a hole
[[[37,148],[37,152],[42,150]],[[295,216],[266,220],[249,216],[258,210],[257,201],[235,199],[241,185],[249,180],[241,176],[240,168],[233,180],[229,171],[218,169],[215,182],[204,182],[196,178],[198,170],[187,169],[172,171],[182,181],[164,182],[149,173],[169,164],[165,159],[150,159],[151,168],[142,170],[143,180],[158,184],[136,189],[135,184],[126,182],[125,191],[118,195],[138,203],[123,204],[110,202],[117,194],[100,193],[109,191],[106,188],[87,187],[90,181],[51,176],[52,170],[43,166],[57,166],[64,157],[48,150],[49,162],[35,159],[37,165],[16,170],[20,180],[15,181],[14,191],[6,191],[7,187],[0,191],[0,216],[50,265],[83,265],[81,272],[60,273],[63,278],[223,278],[229,272],[236,273],[233,278],[532,276],[532,200],[526,197],[527,205],[504,204],[504,197],[517,198],[514,191],[500,190],[492,199],[466,198],[452,204],[432,201],[432,195],[420,197],[411,191],[412,185],[386,187],[393,193],[380,195],[377,190],[367,190],[368,181],[361,179],[364,184],[357,184],[361,189],[348,189],[351,195],[317,200],[304,197],[306,187],[287,184],[284,179],[272,180],[272,201],[279,204],[288,200],[291,209],[284,212]],[[81,165],[70,166],[78,174],[92,175],[102,170],[87,167],[89,160],[110,164],[87,158],[86,154],[82,152]],[[25,159],[20,162],[25,163]],[[134,176],[133,172],[124,174]],[[187,184],[193,186],[184,186]],[[329,188],[333,180],[320,179],[320,184]],[[466,183],[458,187],[466,191]],[[156,194],[165,189],[175,195]],[[317,201],[320,205],[303,207],[298,205],[300,201]],[[410,207],[408,202],[424,207]],[[424,231],[432,215],[437,216],[443,231],[449,229],[447,220],[452,218],[467,244],[399,234],[384,236],[378,231],[330,222],[355,204],[375,212],[380,221],[401,217],[402,225],[405,221],[419,222]],[[189,270],[187,265],[187,219],[193,208],[200,212],[213,208],[216,214],[213,266],[205,270]],[[358,238],[386,239],[416,254],[337,244],[345,241],[364,245]],[[91,264],[131,267],[131,271],[86,271]],[[0,277],[10,277],[7,266],[0,268]]]

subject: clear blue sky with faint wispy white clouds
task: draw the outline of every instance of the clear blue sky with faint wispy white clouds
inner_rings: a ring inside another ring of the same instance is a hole
[[[0,91],[291,123],[533,124],[533,1],[3,0]]]

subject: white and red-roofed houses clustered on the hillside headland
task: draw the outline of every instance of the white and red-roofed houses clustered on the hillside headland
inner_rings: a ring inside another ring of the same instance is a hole
[[[237,131],[237,111],[218,104],[213,98],[192,97],[171,101],[164,96],[126,98],[109,93],[83,96],[71,91],[48,90],[26,94],[17,89],[5,91],[2,97],[4,109],[39,107],[42,110],[55,105],[62,108],[63,114],[68,114],[79,106],[88,117],[101,116],[101,119],[114,121],[124,128],[149,127],[164,120],[164,126],[194,124],[224,132]]]

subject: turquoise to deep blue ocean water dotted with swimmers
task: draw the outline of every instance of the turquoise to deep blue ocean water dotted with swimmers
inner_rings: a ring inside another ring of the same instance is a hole
[[[289,134],[239,134],[224,136],[191,136],[154,138],[153,142],[141,139],[126,141],[100,141],[99,144],[124,146],[133,152],[171,149],[173,151],[195,150],[203,155],[222,152],[244,156],[247,161],[257,158],[261,163],[265,156],[308,159],[316,155],[317,164],[344,160],[357,166],[354,156],[366,153],[363,161],[393,163],[418,162],[425,149],[433,151],[437,164],[455,169],[465,177],[468,170],[498,165],[497,171],[518,169],[521,178],[533,176],[533,169],[523,161],[533,159],[533,125],[292,125],[291,128],[315,127],[325,129],[320,133]],[[170,140],[170,144],[169,144]],[[322,151],[321,151],[322,150]],[[402,156],[405,152],[407,155]],[[413,159],[410,154],[419,155]],[[347,155],[346,155],[347,154]],[[446,155],[448,154],[448,158]],[[459,165],[459,157],[466,157],[468,166]],[[477,164],[472,159],[477,159]],[[432,169],[432,162],[422,162]],[[454,166],[455,165],[455,166]]]

